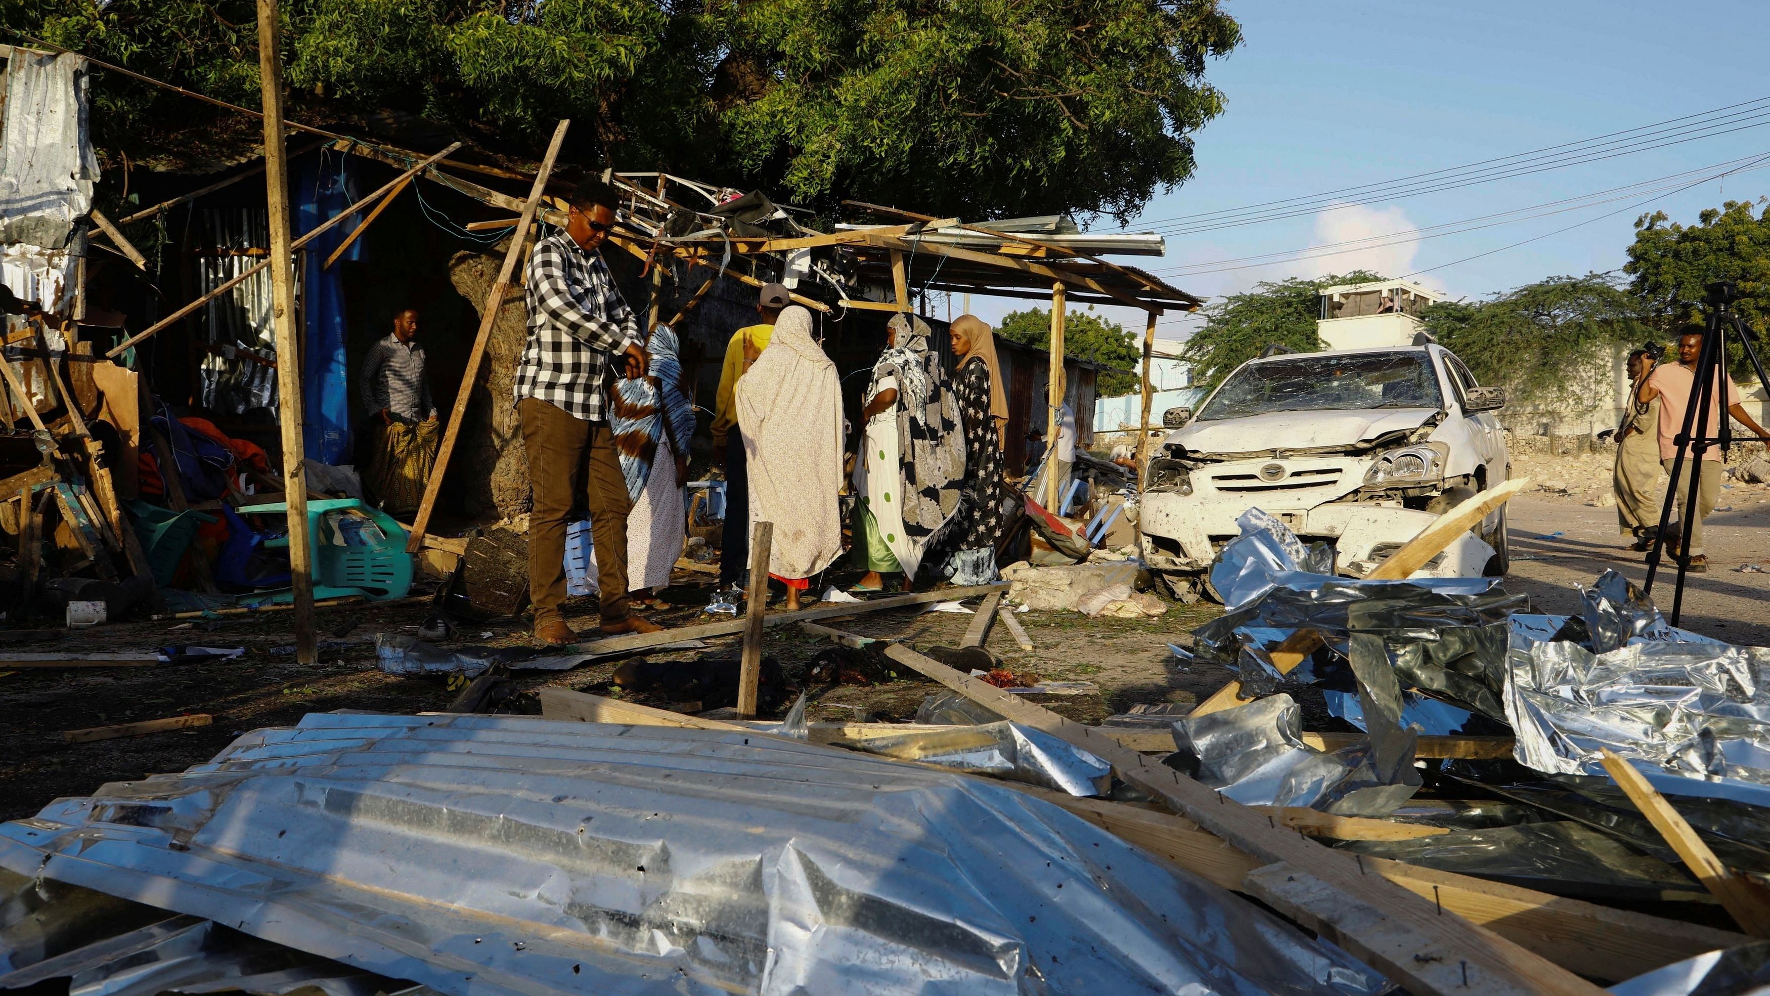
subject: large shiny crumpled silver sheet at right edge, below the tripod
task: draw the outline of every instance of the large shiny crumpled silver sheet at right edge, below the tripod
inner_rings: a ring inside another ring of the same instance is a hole
[[[1598,589],[1605,586],[1600,578]],[[1600,605],[1591,610],[1593,601]],[[1662,793],[1770,805],[1770,647],[1742,647],[1655,624],[1657,612],[1588,598],[1595,653],[1554,617],[1510,624],[1506,720],[1520,764],[1554,775],[1604,775],[1614,750]]]

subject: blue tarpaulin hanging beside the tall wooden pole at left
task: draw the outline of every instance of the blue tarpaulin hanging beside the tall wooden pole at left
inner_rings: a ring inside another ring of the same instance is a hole
[[[356,202],[356,170],[347,156],[322,152],[301,170],[294,193],[299,237]],[[338,264],[329,269],[324,264],[359,223],[359,218],[345,221],[308,242],[301,280],[306,334],[301,370],[303,444],[310,460],[333,465],[350,462],[350,386],[343,352],[343,274]],[[361,249],[363,242],[354,242],[340,262],[359,258]]]

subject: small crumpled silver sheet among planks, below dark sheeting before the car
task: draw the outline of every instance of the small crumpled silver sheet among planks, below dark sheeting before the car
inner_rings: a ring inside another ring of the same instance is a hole
[[[1379,771],[1368,741],[1331,754],[1304,745],[1301,709],[1285,693],[1177,720],[1174,745],[1163,764],[1243,805],[1386,816],[1420,787],[1411,764],[1412,784],[1391,784],[1397,771]]]

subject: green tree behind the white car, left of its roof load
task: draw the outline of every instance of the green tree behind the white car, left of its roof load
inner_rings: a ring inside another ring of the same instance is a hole
[[[1322,288],[1375,280],[1382,278],[1354,271],[1315,280],[1260,281],[1253,290],[1207,304],[1205,324],[1186,340],[1181,357],[1193,364],[1193,382],[1209,389],[1269,345],[1296,352],[1319,350],[1322,343],[1315,338],[1315,320],[1320,318]]]

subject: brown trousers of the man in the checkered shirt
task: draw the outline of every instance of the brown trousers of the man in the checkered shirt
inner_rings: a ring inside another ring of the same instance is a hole
[[[565,601],[565,527],[579,495],[589,508],[589,532],[596,543],[596,587],[602,621],[627,617],[627,478],[614,453],[614,433],[605,421],[584,421],[565,410],[522,398],[522,448],[529,456],[529,600],[535,621],[559,616]]]

